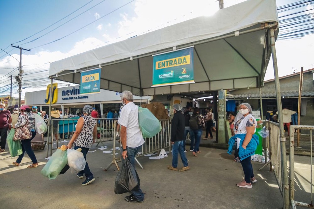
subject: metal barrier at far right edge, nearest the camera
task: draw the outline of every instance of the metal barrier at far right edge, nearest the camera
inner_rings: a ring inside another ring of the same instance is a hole
[[[295,141],[294,141],[294,131],[296,129],[306,129],[310,130],[310,138],[311,138],[311,182],[309,182],[311,187],[311,197],[310,197],[310,203],[303,203],[299,201],[295,201],[295,155],[294,155],[294,147],[295,147]],[[292,208],[296,208],[296,206],[303,206],[303,207],[309,207],[314,208],[313,206],[313,155],[312,155],[312,130],[314,130],[314,126],[290,126],[290,203]]]

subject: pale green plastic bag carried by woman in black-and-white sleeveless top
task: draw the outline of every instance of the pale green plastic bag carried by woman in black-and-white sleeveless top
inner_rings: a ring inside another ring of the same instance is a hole
[[[68,164],[68,152],[57,149],[41,170],[41,174],[49,179],[56,179],[66,164]]]

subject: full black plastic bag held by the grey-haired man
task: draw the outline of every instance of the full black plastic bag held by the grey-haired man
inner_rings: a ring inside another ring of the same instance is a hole
[[[116,177],[116,183],[113,187],[116,194],[123,194],[133,190],[137,190],[139,186],[138,174],[129,161],[129,159],[122,160],[122,166]]]

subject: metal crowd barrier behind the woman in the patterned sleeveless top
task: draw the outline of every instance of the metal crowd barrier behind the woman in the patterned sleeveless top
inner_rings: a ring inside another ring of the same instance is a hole
[[[71,140],[73,133],[75,132],[75,126],[77,124],[78,118],[68,118],[68,119],[52,119],[50,127],[50,137],[47,137],[47,157],[50,150],[50,156],[52,155],[52,150],[57,149],[61,145],[67,145]],[[115,133],[114,133],[114,123],[115,119],[109,118],[96,118],[96,126],[97,126],[97,137],[94,143],[97,143],[98,146],[100,143],[104,146],[103,142],[112,141]],[[54,130],[53,124],[57,123],[56,128]],[[57,147],[52,147],[52,141],[55,138],[55,133],[58,134]],[[62,142],[60,142],[60,138]],[[65,142],[66,141],[66,142]]]

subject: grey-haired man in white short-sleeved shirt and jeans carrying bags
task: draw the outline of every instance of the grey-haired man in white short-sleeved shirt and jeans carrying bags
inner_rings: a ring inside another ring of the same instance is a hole
[[[142,131],[138,125],[138,106],[133,103],[133,94],[130,91],[123,91],[121,93],[122,106],[118,124],[121,126],[120,139],[122,143],[122,157],[126,157],[134,165],[135,155],[140,151],[143,139]],[[130,196],[126,196],[125,200],[128,202],[143,202],[144,194],[139,187],[133,190]]]

